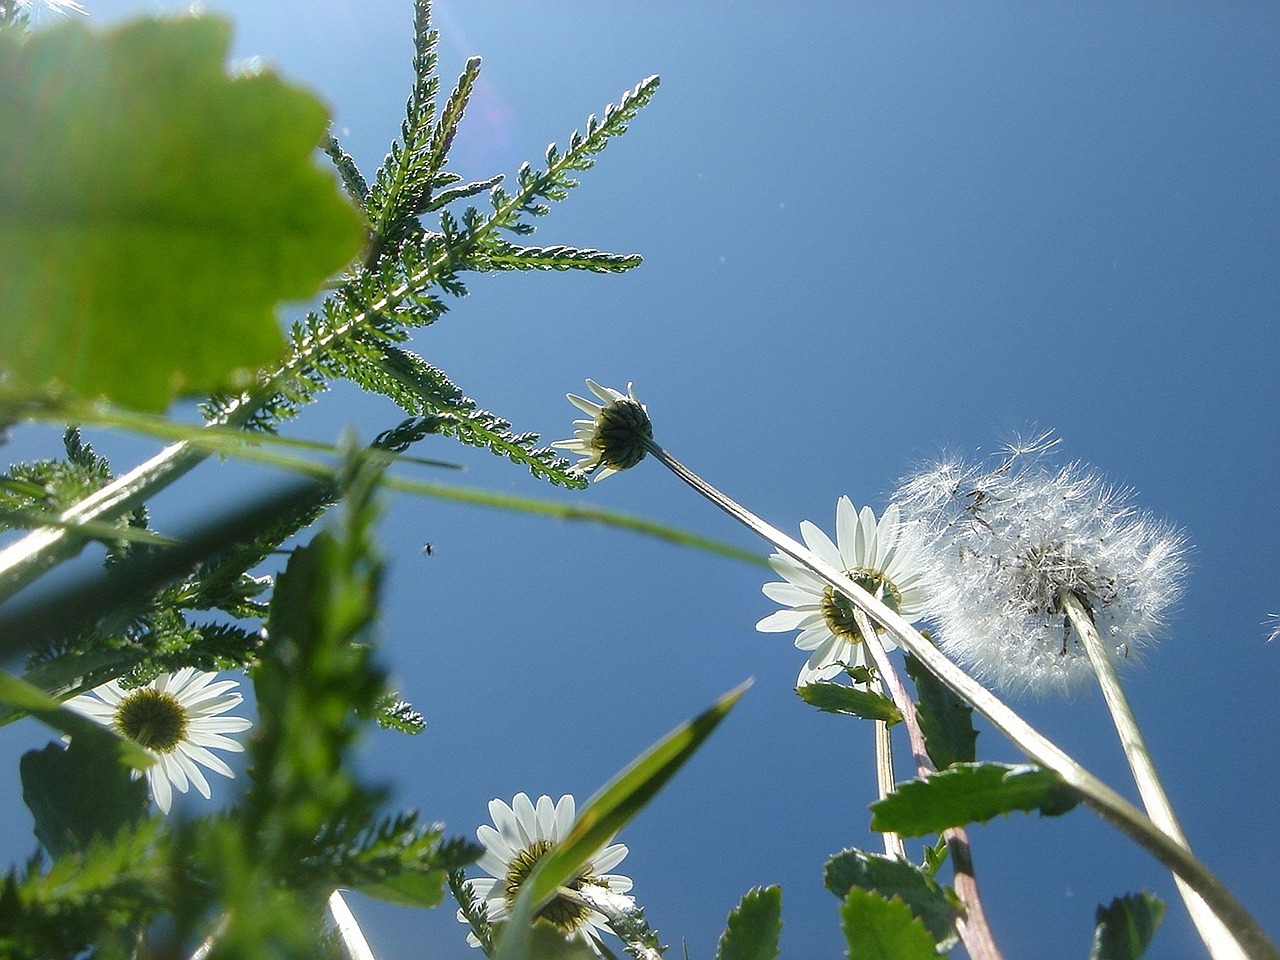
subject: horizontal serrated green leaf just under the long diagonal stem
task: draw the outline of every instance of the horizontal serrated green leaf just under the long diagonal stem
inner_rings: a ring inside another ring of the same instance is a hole
[[[986,823],[1014,810],[1057,817],[1076,803],[1075,792],[1052,771],[1029,764],[960,763],[901,783],[872,804],[872,829],[922,837],[947,827]]]

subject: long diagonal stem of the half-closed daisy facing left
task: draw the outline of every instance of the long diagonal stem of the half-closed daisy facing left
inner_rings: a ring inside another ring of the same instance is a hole
[[[845,576],[844,572],[836,570],[803,544],[722,494],[698,476],[698,474],[662,449],[654,440],[648,439],[645,447],[668,470],[703,497],[758,536],[772,543],[778,550],[791,557],[803,567],[822,577],[832,588],[847,596],[851,603],[870,614],[905,650],[920,660],[931,673],[951,687],[956,695],[986,717],[996,730],[1009,737],[1029,759],[1057,773],[1098,815],[1181,877],[1203,897],[1204,902],[1226,924],[1228,929],[1234,932],[1236,942],[1245,951],[1245,956],[1252,957],[1252,960],[1280,960],[1280,948],[1276,947],[1266,931],[1253,919],[1235,895],[1203,863],[1192,856],[1190,851],[1157,827],[1142,810],[1089,773],[1060,746],[1032,727],[1004,700],[947,659],[941,650],[925,640],[910,623]]]

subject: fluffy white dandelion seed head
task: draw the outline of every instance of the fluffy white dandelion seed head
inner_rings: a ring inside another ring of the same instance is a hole
[[[1093,680],[1064,594],[1079,598],[1115,660],[1135,659],[1187,571],[1180,532],[1080,465],[1042,462],[1052,445],[1010,447],[993,468],[928,465],[895,494],[918,521],[938,645],[1018,692],[1066,694]]]

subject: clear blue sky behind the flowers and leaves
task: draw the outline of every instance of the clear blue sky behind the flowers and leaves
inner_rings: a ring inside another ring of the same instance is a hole
[[[93,22],[183,6],[87,5]],[[317,90],[372,172],[410,82],[408,0],[205,8],[234,19],[237,58]],[[1128,689],[1193,846],[1280,936],[1280,643],[1262,625],[1280,609],[1280,6],[440,0],[435,19],[447,84],[484,58],[454,148],[468,177],[515,173],[623,88],[663,83],[536,236],[644,266],[474,278],[415,348],[547,439],[568,435],[563,394],[584,376],[635,380],[659,442],[792,531],[829,529],[840,494],[882,508],[943,448],[1056,429],[1065,456],[1194,544],[1185,600]],[[367,438],[398,419],[338,389],[296,433]],[[122,468],[147,449],[102,445]],[[466,462],[470,485],[553,495],[483,452],[422,453]],[[257,480],[210,465],[161,522]],[[755,547],[650,462],[562,495]],[[754,676],[627,828],[620,872],[671,956],[710,957],[728,910],[767,883],[783,887],[785,956],[842,955],[822,864],[876,846],[870,728],[794,695],[803,654],[754,631],[774,609],[767,573],[404,497],[383,531],[387,658],[429,721],[369,741],[367,771],[399,804],[470,835],[494,796],[585,799]],[[1016,705],[1133,794],[1100,698]],[[6,731],[0,760],[45,739]],[[1016,759],[989,730],[979,750]],[[0,840],[22,860],[15,777],[3,803]],[[973,840],[1009,957],[1085,956],[1096,904],[1140,888],[1170,906],[1151,956],[1203,956],[1169,877],[1092,814]],[[477,956],[449,909],[355,908],[383,960]]]

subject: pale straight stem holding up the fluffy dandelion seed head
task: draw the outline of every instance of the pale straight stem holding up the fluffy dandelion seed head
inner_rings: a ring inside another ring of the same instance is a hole
[[[1160,774],[1156,773],[1156,764],[1151,759],[1151,751],[1147,749],[1147,740],[1138,727],[1133,708],[1129,705],[1129,698],[1125,696],[1124,687],[1120,686],[1120,677],[1116,675],[1115,663],[1102,644],[1102,637],[1098,636],[1093,617],[1089,616],[1088,609],[1080,603],[1080,598],[1071,591],[1062,591],[1059,602],[1062,605],[1062,611],[1070,618],[1071,626],[1075,627],[1075,632],[1080,636],[1085,653],[1089,655],[1089,663],[1098,677],[1098,686],[1102,687],[1102,698],[1111,712],[1111,721],[1115,723],[1116,733],[1120,736],[1120,745],[1124,748],[1124,754],[1129,760],[1129,769],[1133,771],[1133,780],[1138,785],[1138,795],[1142,797],[1143,806],[1147,808],[1151,819],[1160,824],[1165,833],[1189,851],[1190,846],[1187,842],[1187,836],[1178,823],[1174,806],[1169,803],[1169,795],[1160,782]],[[1190,914],[1192,922],[1196,924],[1215,960],[1239,960],[1239,957],[1243,957],[1244,952],[1235,942],[1235,938],[1208,909],[1199,895],[1187,886],[1178,874],[1174,874],[1174,881],[1178,884],[1178,892],[1187,904],[1187,911]]]

